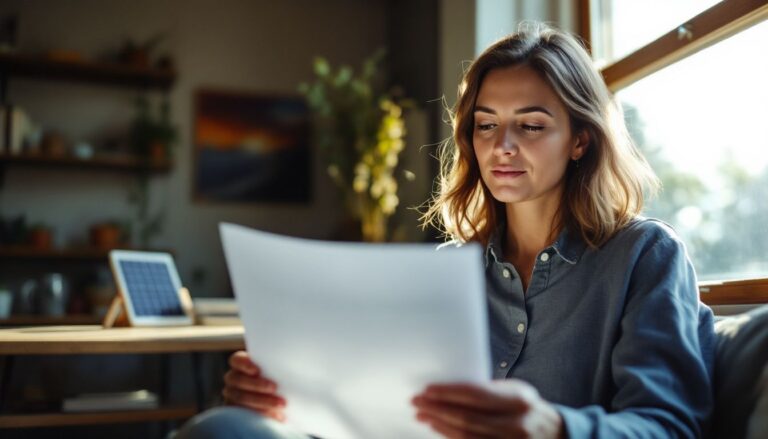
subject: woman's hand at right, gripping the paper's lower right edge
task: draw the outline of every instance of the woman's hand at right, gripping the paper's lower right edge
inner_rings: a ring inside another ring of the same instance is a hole
[[[520,380],[434,384],[413,398],[416,418],[448,438],[561,438],[552,404]]]

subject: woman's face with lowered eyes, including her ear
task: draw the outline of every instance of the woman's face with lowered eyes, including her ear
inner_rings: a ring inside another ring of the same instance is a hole
[[[474,109],[480,174],[503,203],[559,202],[568,161],[585,151],[554,90],[529,67],[488,72]],[[584,145],[582,145],[582,142]]]

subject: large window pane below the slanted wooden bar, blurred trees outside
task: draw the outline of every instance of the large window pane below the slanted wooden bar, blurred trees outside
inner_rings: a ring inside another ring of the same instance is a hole
[[[617,94],[702,280],[768,276],[768,21]]]

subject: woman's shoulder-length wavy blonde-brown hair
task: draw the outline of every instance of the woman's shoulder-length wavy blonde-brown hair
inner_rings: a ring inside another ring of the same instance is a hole
[[[573,133],[589,135],[585,154],[566,169],[553,233],[568,227],[591,247],[600,247],[640,214],[644,197],[659,182],[630,139],[623,112],[587,52],[574,37],[541,23],[521,25],[465,72],[451,112],[453,139],[439,151],[439,189],[422,224],[437,227],[448,239],[486,245],[505,215],[503,203],[493,198],[480,176],[472,145],[474,107],[489,71],[517,65],[538,72],[552,87],[568,111]]]

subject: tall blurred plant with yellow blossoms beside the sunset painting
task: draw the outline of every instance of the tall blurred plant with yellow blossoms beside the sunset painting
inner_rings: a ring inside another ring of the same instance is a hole
[[[381,91],[383,55],[367,59],[357,76],[348,66],[334,70],[316,58],[315,81],[299,86],[316,116],[328,175],[359,221],[363,240],[373,242],[388,239],[387,222],[399,204],[395,169],[405,147],[401,103]]]

